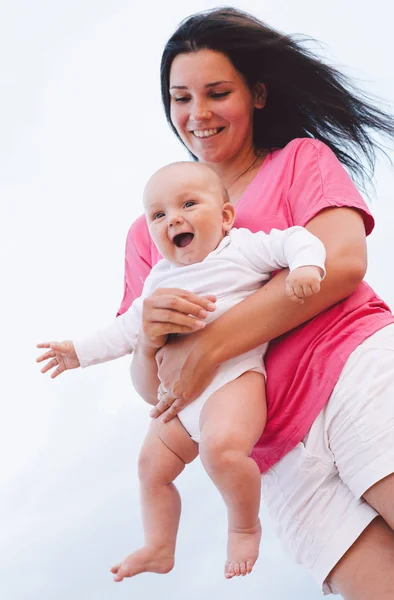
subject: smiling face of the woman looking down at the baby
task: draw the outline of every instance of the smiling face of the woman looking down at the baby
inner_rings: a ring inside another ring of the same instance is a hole
[[[175,57],[170,71],[171,121],[187,148],[204,163],[250,153],[256,94],[226,55],[199,50]]]

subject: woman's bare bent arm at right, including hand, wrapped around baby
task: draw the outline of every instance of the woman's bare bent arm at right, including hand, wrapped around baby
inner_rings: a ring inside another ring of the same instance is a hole
[[[202,393],[218,365],[305,323],[349,296],[360,284],[367,267],[365,228],[360,213],[351,208],[327,208],[311,219],[306,228],[326,247],[327,275],[320,293],[305,299],[304,304],[294,305],[286,296],[288,271],[284,270],[193,336],[194,343],[188,349],[161,349],[157,355],[159,377],[176,399],[166,411],[165,420]],[[182,355],[185,359],[180,360]],[[166,409],[167,405],[159,402],[152,416]]]

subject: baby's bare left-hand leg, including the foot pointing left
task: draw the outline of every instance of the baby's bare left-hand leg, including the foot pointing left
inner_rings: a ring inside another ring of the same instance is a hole
[[[139,457],[145,546],[112,567],[115,581],[146,571],[171,571],[181,513],[180,496],[172,482],[197,454],[198,444],[178,418],[168,423],[152,420]]]

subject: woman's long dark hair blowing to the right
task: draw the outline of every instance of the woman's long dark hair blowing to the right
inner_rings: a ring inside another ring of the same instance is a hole
[[[257,83],[266,85],[267,103],[254,113],[256,150],[283,148],[294,138],[313,137],[327,144],[361,182],[372,177],[376,150],[383,151],[372,134],[393,136],[392,115],[374,106],[343,74],[293,37],[231,7],[186,18],[164,48],[162,100],[178,138],[170,116],[171,64],[178,54],[202,49],[225,54],[251,89]]]

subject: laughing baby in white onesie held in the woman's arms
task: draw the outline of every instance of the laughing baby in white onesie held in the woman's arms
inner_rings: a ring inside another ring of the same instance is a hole
[[[232,228],[234,207],[209,167],[175,163],[160,169],[145,188],[144,208],[150,235],[164,258],[152,268],[142,296],[86,339],[38,344],[50,349],[37,358],[48,361],[43,373],[56,367],[53,377],[131,353],[138,342],[143,299],[158,288],[215,296],[216,309],[208,313],[206,323],[253,294],[283,267],[290,268],[290,299],[300,302],[320,290],[325,275],[320,240],[302,227],[269,234]],[[111,569],[115,581],[172,569],[180,518],[173,482],[198,453],[227,506],[225,577],[252,571],[261,537],[261,480],[249,455],[266,421],[266,347],[222,364],[205,392],[178,417],[168,423],[152,420],[139,460],[145,546]]]

